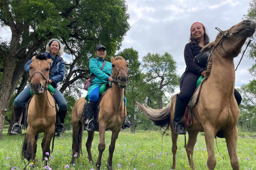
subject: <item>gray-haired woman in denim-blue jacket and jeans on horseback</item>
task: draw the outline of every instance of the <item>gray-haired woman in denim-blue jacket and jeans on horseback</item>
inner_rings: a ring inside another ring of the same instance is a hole
[[[54,94],[56,95],[54,99],[56,100],[58,106],[59,106],[59,117],[60,117],[60,123],[56,127],[56,133],[64,132],[63,123],[64,119],[67,114],[67,102],[61,92],[57,89],[57,83],[62,81],[65,75],[65,62],[60,57],[63,54],[63,47],[64,45],[57,39],[51,39],[46,44],[46,52],[45,54],[48,59],[52,59],[52,62],[50,63],[50,70],[49,70],[49,83],[54,88]],[[33,60],[29,60],[25,64],[25,71],[29,74],[29,65]],[[21,112],[22,112],[22,106],[30,99],[30,86],[27,86],[14,100],[13,102],[13,114],[15,117],[15,121],[18,122]],[[21,129],[19,126],[16,126],[13,128],[12,133],[20,134]]]

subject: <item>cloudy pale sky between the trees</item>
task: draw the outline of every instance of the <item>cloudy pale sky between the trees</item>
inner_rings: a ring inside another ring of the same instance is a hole
[[[179,74],[185,71],[184,47],[188,43],[190,26],[201,22],[214,41],[215,27],[227,30],[242,21],[250,0],[127,0],[130,31],[121,50],[133,47],[141,58],[147,54],[169,52],[177,61]],[[243,47],[245,49],[245,47]],[[235,58],[238,64],[241,54]],[[253,77],[247,70],[254,61],[246,57],[236,71],[236,87],[248,83]],[[177,89],[178,90],[178,89]]]

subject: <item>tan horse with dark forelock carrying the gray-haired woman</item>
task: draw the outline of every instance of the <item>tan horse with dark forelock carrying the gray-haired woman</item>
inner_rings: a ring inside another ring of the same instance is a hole
[[[27,133],[22,146],[22,156],[28,161],[31,159],[35,163],[37,139],[39,133],[44,133],[42,140],[43,160],[49,159],[50,144],[55,131],[56,111],[54,100],[46,87],[49,80],[49,69],[51,59],[46,55],[38,54],[34,56],[33,62],[29,65],[29,76],[31,79],[30,88],[34,92],[28,108]],[[53,150],[53,146],[52,146]],[[49,155],[46,154],[49,153]],[[45,164],[47,164],[47,160]]]

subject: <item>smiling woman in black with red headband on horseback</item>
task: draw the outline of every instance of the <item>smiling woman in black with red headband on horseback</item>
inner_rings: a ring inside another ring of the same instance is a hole
[[[183,117],[187,104],[196,89],[198,78],[201,75],[204,76],[209,55],[205,53],[204,57],[199,59],[199,62],[195,60],[195,57],[202,54],[200,53],[200,50],[209,42],[210,39],[206,33],[204,25],[198,22],[193,23],[190,27],[189,43],[185,45],[184,49],[184,59],[187,67],[180,79],[180,94],[176,95],[175,114],[173,119],[174,132],[176,134],[185,134],[185,130],[182,128],[183,123],[179,121]],[[234,95],[237,104],[240,105],[242,97],[236,89]]]

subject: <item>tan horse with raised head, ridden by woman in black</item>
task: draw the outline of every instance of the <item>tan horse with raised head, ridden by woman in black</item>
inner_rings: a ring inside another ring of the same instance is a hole
[[[246,39],[254,34],[255,28],[256,23],[254,21],[244,20],[231,27],[228,31],[224,31],[228,36],[219,33],[214,42],[209,43],[201,50],[206,52],[214,47],[205,75],[208,79],[202,84],[198,100],[193,107],[195,115],[202,126],[192,117],[193,124],[187,128],[189,139],[186,151],[189,165],[192,169],[195,169],[193,151],[199,131],[204,131],[205,134],[208,153],[207,167],[210,170],[215,168],[214,137],[219,130],[224,131],[232,168],[234,170],[239,169],[236,151],[239,109],[234,97],[234,57],[238,56]],[[176,95],[172,98],[172,102],[161,110],[145,108],[138,104],[139,109],[155,124],[162,127],[167,124],[170,125],[172,131],[172,169],[176,168],[178,138],[178,135],[174,133],[173,127],[175,100]],[[163,123],[161,124],[161,122]]]

